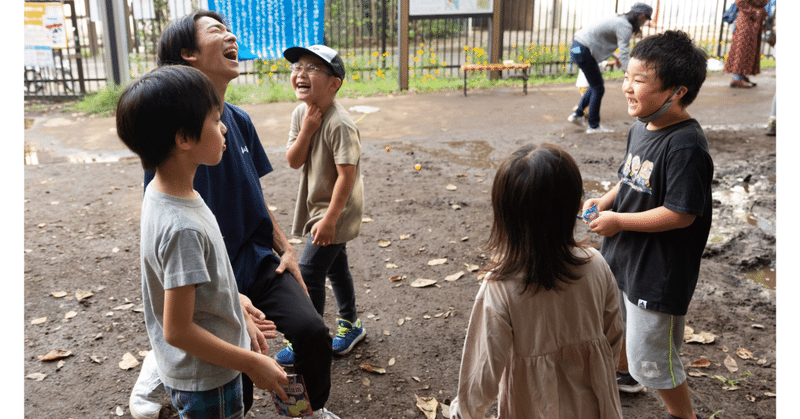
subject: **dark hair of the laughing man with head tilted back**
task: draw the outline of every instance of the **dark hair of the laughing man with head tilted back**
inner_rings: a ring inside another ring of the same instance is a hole
[[[210,17],[226,27],[228,26],[222,15],[205,9],[196,10],[172,21],[158,39],[156,65],[159,67],[175,64],[189,65],[189,62],[183,59],[181,50],[197,51],[197,20],[202,17]]]

